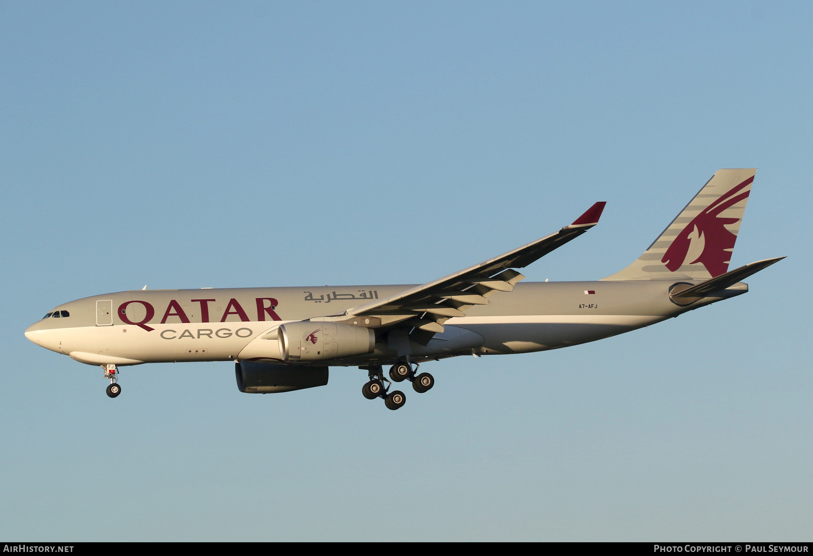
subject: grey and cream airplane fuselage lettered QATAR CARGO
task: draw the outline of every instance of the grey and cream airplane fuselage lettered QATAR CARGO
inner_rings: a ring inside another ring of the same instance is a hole
[[[680,280],[693,284],[698,280]],[[498,293],[446,321],[446,331],[416,361],[461,354],[515,354],[552,350],[615,336],[719,301],[679,306],[669,298],[670,280],[536,282]],[[737,287],[740,286],[740,287]],[[729,288],[724,297],[745,293]],[[279,360],[263,339],[280,324],[341,314],[364,300],[387,298],[411,285],[133,290],[77,299],[50,311],[25,332],[28,339],[93,365]],[[67,317],[61,315],[67,311]],[[363,318],[358,326],[365,326]],[[376,339],[372,354],[322,364],[394,363],[398,354]]]

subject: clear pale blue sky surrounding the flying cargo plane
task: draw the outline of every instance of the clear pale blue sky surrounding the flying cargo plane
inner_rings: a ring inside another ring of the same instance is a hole
[[[0,538],[810,540],[806,2],[0,2]],[[550,353],[427,364],[402,410],[101,371],[23,331],[141,289],[422,283],[636,258],[759,167],[745,296]]]

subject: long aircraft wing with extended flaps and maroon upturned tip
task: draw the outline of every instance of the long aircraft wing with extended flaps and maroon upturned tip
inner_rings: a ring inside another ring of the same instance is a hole
[[[389,298],[351,307],[343,321],[354,324],[359,318],[375,319],[366,324],[411,328],[411,340],[426,345],[436,332],[443,332],[446,320],[463,316],[472,306],[488,305],[493,293],[513,290],[525,276],[512,268],[528,266],[598,224],[605,204],[595,203],[569,226],[528,245]]]

